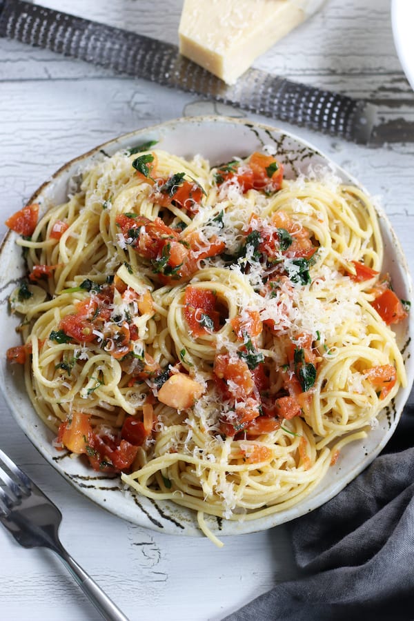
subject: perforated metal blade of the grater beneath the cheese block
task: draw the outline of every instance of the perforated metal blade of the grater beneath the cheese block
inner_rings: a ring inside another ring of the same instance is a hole
[[[377,108],[367,101],[257,69],[227,86],[170,43],[22,0],[0,0],[0,36],[360,144],[375,126]]]

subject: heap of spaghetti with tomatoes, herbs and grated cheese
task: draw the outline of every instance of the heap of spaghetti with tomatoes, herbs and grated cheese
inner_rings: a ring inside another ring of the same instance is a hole
[[[213,539],[204,514],[301,502],[406,383],[375,209],[332,175],[118,152],[18,243],[9,357],[57,448]]]

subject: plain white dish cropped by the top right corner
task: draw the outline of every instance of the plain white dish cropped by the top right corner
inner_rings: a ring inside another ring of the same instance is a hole
[[[393,0],[391,21],[397,55],[408,82],[414,90],[414,2]]]

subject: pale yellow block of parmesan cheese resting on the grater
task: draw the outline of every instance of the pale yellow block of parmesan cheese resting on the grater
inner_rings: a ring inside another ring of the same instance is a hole
[[[324,0],[184,0],[181,54],[233,84]]]

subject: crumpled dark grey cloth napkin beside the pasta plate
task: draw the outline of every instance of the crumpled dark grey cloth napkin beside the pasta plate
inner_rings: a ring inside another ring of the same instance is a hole
[[[411,397],[413,397],[413,393]],[[414,399],[371,466],[290,523],[298,580],[224,621],[414,620]]]

